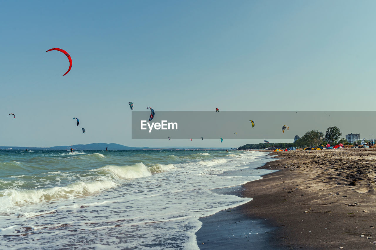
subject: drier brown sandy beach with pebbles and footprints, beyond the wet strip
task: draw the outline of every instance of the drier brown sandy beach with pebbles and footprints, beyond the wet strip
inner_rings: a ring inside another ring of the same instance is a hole
[[[280,171],[247,183],[243,195],[253,200],[241,209],[276,228],[276,247],[376,247],[376,149],[272,154],[283,159],[262,168]]]

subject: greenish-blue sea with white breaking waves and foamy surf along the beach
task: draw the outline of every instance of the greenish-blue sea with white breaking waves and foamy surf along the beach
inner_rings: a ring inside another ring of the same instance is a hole
[[[200,217],[252,200],[216,190],[261,179],[268,170],[256,167],[267,158],[258,151],[0,150],[0,249],[199,249]]]

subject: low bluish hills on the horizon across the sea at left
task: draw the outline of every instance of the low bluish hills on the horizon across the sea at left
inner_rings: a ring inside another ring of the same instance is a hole
[[[147,147],[144,148],[133,148],[124,146],[117,143],[90,143],[90,144],[77,144],[72,146],[55,146],[50,148],[36,148],[36,147],[12,147],[12,146],[0,146],[0,149],[55,149],[55,150],[65,150],[74,148],[76,150],[104,150],[108,148],[108,150],[138,150],[138,149],[148,149]]]

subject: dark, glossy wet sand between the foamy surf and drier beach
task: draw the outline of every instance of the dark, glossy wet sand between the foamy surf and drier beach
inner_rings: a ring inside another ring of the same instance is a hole
[[[273,155],[267,154],[262,159],[250,163],[248,168],[228,171],[220,174],[221,176],[264,176],[271,172],[263,169],[262,166],[274,161]],[[250,183],[250,182],[247,182]],[[218,188],[212,190],[217,194],[242,196],[244,185]],[[252,200],[250,201],[252,202]],[[248,202],[249,203],[249,202]],[[196,232],[196,241],[200,250],[216,249],[228,250],[249,249],[247,246],[252,245],[252,249],[278,249],[271,244],[271,235],[274,227],[267,223],[265,219],[250,218],[243,211],[243,205],[230,209],[224,209],[213,215],[201,217],[201,228]],[[257,246],[257,247],[256,247]],[[255,248],[256,247],[256,248]],[[282,249],[282,248],[279,248]]]

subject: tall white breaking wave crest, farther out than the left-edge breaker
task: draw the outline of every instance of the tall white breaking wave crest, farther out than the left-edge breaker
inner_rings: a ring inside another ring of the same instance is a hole
[[[152,175],[143,163],[137,163],[132,166],[107,165],[90,171],[96,171],[99,175],[109,175],[113,179],[136,179]]]

